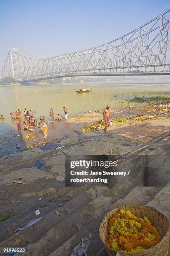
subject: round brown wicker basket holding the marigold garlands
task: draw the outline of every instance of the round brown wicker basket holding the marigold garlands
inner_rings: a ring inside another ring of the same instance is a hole
[[[99,228],[99,236],[106,248],[108,256],[115,256],[117,251],[114,251],[112,248],[106,245],[106,238],[108,235],[107,226],[110,217],[112,214],[119,212],[120,208],[124,208],[125,210],[129,210],[132,214],[136,215],[138,218],[143,218],[144,216],[148,217],[148,219],[152,222],[153,226],[155,226],[160,232],[163,239],[156,246],[153,246],[150,249],[147,249],[140,253],[123,253],[119,252],[122,256],[167,256],[169,243],[170,243],[170,222],[168,219],[160,212],[155,210],[155,208],[145,205],[125,205],[119,208],[113,209],[110,212],[107,212],[102,222],[100,223]]]

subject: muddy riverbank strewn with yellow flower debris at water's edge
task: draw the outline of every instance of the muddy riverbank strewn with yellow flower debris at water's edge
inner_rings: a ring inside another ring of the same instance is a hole
[[[113,125],[108,128],[108,133],[118,127],[138,124],[140,121],[158,118],[170,113],[170,103],[168,104],[125,104],[126,107],[111,110]],[[20,136],[17,131],[11,131],[3,134],[0,138],[0,156],[5,157],[22,151],[28,151],[35,147],[53,148],[55,143],[60,144],[63,139],[82,137],[82,133],[94,131],[103,133],[105,126],[102,118],[102,110],[68,117],[55,123],[48,123],[48,137],[43,138],[40,125],[33,128],[34,131],[22,130]],[[5,122],[5,120],[4,120]],[[23,121],[21,120],[21,123]],[[38,122],[37,122],[38,123]],[[54,145],[53,145],[54,144]]]

